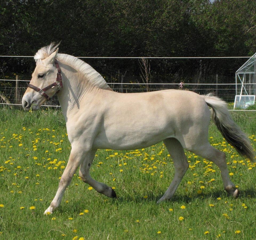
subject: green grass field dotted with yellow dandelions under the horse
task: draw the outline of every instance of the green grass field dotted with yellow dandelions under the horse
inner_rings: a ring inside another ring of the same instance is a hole
[[[232,115],[255,148],[255,113]],[[47,216],[71,148],[62,113],[2,107],[0,124],[0,239],[255,239],[255,164],[238,156],[212,123],[209,141],[226,153],[236,199],[224,191],[217,166],[186,152],[190,168],[173,199],[156,204],[174,175],[159,143],[98,150],[91,175],[118,198],[90,190],[77,172]]]

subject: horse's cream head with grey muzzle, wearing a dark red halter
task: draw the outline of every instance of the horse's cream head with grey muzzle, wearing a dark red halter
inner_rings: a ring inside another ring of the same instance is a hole
[[[53,96],[59,90],[59,85],[56,84],[51,86],[49,89],[42,91],[56,80],[57,70],[54,61],[58,53],[58,49],[45,58],[44,56],[40,56],[38,58],[38,55],[40,55],[39,51],[35,55],[37,65],[32,74],[32,79],[28,85],[29,87],[22,97],[22,106],[26,111],[29,111],[31,106],[32,110],[39,110],[40,106],[48,100],[48,96]]]

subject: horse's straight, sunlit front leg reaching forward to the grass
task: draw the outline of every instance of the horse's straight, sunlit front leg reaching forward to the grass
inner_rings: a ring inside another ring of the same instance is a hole
[[[57,193],[53,201],[51,202],[50,206],[45,210],[44,214],[52,213],[57,207],[59,207],[67,186],[69,186],[71,179],[75,174],[78,166],[81,164],[81,162],[88,153],[90,153],[90,151],[81,151],[81,149],[79,149],[78,147],[72,146],[69,161],[61,176],[61,180],[59,181]]]

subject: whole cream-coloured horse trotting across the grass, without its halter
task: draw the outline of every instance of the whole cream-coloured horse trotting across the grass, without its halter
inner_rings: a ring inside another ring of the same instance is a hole
[[[158,203],[170,199],[189,164],[184,150],[214,162],[221,170],[224,188],[233,196],[238,190],[229,178],[225,153],[208,142],[210,106],[212,117],[226,140],[237,151],[254,161],[249,139],[231,119],[226,103],[214,96],[200,96],[184,90],[164,90],[123,94],[114,92],[91,66],[67,54],[58,54],[53,44],[35,54],[36,68],[30,84],[42,89],[55,81],[57,59],[62,71],[63,88],[57,93],[66,120],[72,149],[59,182],[58,191],[45,213],[52,213],[63,197],[72,176],[79,176],[96,191],[116,197],[114,190],[90,176],[97,149],[131,150],[163,141],[173,159],[175,175]],[[46,91],[53,96],[59,87]],[[28,88],[22,105],[38,110],[46,98]],[[208,105],[208,106],[207,106]]]

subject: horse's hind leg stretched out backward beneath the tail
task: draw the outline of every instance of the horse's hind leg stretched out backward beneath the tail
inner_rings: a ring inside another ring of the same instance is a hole
[[[204,145],[201,145],[199,148],[193,147],[192,149],[188,150],[215,163],[221,170],[221,178],[225,190],[232,196],[237,196],[238,190],[229,178],[226,155],[224,152],[211,146],[208,141]]]

